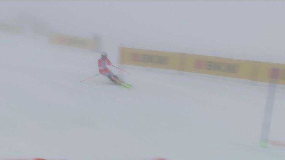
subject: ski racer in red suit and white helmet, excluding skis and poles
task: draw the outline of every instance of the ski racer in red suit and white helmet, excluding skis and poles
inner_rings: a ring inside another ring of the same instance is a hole
[[[107,53],[102,52],[101,58],[98,60],[99,72],[103,76],[108,77],[108,79],[110,79],[112,82],[117,83],[116,80],[118,80],[119,78],[107,68],[107,65],[112,65],[112,63],[109,60],[109,58],[107,57]]]

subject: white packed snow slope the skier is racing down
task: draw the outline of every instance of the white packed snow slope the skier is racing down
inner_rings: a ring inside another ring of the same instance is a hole
[[[18,36],[0,44],[0,158],[285,159],[258,146],[267,84],[135,67],[125,67],[131,89],[102,75],[80,83],[99,54]],[[278,87],[270,135],[280,140],[284,95]]]

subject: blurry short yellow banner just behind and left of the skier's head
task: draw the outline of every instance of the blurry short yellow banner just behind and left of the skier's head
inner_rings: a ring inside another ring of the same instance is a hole
[[[85,38],[79,36],[66,35],[61,33],[50,34],[50,43],[65,47],[87,49],[94,52],[99,51],[99,38]]]

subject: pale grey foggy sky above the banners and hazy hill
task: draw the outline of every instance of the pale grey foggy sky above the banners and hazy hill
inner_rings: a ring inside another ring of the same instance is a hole
[[[26,12],[106,44],[285,63],[284,8],[285,1],[0,1],[0,20]]]

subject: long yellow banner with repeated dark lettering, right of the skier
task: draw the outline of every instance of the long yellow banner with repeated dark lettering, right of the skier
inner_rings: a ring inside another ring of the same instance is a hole
[[[285,84],[285,64],[121,47],[120,63]],[[276,81],[275,81],[276,82]]]

